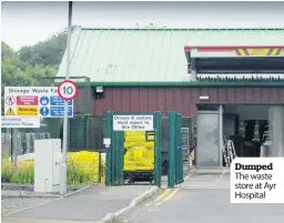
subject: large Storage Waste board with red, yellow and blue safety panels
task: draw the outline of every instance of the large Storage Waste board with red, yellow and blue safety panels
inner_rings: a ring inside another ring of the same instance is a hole
[[[4,99],[6,116],[64,116],[57,87],[4,87]],[[73,116],[73,100],[68,101],[68,116]]]

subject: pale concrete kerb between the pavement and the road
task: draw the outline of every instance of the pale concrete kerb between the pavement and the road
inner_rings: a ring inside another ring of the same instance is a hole
[[[119,210],[115,213],[108,213],[103,219],[101,219],[99,222],[97,223],[112,223],[116,217],[119,217],[121,214],[123,214],[124,212],[131,210],[132,207],[141,204],[142,202],[144,202],[145,200],[152,197],[153,195],[155,195],[158,192],[160,191],[160,187],[158,186],[153,186],[150,190],[145,191],[144,193],[142,193],[141,195],[139,195],[138,197],[133,199],[129,206],[125,206],[121,210]]]

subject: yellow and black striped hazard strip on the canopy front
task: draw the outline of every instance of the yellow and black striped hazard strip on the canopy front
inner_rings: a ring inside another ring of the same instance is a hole
[[[235,57],[277,57],[284,55],[284,49],[282,48],[242,48],[234,49],[233,54]]]

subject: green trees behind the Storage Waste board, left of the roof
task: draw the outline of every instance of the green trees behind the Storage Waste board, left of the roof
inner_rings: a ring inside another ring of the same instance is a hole
[[[32,47],[23,47],[14,52],[1,42],[1,114],[3,115],[4,87],[39,85],[40,78],[54,77],[67,45],[64,32]]]

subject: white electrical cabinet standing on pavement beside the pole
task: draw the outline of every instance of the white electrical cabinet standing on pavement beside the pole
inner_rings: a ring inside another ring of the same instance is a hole
[[[34,192],[60,191],[61,140],[34,140]]]

